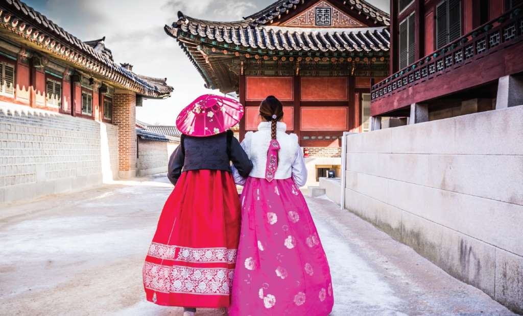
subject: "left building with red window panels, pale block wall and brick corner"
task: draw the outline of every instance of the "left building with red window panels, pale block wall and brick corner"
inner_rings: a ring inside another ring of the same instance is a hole
[[[133,177],[135,108],[172,91],[116,63],[105,38],[0,1],[0,204]]]

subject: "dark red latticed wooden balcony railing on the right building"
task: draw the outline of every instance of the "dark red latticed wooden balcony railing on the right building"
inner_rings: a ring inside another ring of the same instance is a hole
[[[413,85],[452,72],[453,69],[523,40],[522,11],[523,5],[519,5],[373,85],[371,100],[386,98]],[[523,58],[523,52],[521,54]]]

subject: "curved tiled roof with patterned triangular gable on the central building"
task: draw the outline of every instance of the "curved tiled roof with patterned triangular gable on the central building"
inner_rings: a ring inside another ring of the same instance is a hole
[[[316,16],[325,10],[329,22]],[[389,15],[363,0],[280,0],[233,22],[192,18],[179,11],[178,20],[164,29],[177,39],[205,86],[226,93],[235,89],[232,60],[242,65],[249,58],[291,63],[343,62],[354,56],[383,60],[390,48],[388,26]]]

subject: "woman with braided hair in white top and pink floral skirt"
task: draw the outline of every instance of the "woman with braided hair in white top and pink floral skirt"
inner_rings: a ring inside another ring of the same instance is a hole
[[[233,167],[242,225],[230,316],[325,316],[333,307],[331,273],[309,208],[298,189],[306,182],[303,153],[286,134],[281,102],[260,104],[264,122],[242,142],[253,169],[247,179]]]

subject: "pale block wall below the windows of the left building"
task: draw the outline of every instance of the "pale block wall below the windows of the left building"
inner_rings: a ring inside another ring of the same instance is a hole
[[[101,184],[105,169],[118,170],[117,131],[111,124],[0,102],[0,204]]]

